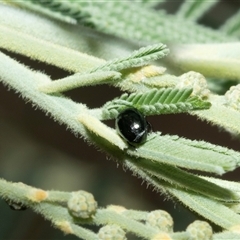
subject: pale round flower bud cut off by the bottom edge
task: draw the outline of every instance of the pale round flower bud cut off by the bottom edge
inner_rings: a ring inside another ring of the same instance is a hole
[[[117,225],[106,225],[98,232],[99,240],[127,240],[125,232]]]

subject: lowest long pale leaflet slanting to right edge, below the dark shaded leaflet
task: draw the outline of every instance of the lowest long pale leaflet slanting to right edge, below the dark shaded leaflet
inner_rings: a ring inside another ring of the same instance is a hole
[[[153,176],[143,170],[138,170],[136,163],[134,162],[127,162],[126,165],[134,173],[141,176],[148,183],[151,183],[155,190],[164,192],[169,197],[173,196],[177,198],[192,211],[218,226],[221,226],[224,229],[232,229],[240,225],[240,216],[224,206],[221,201],[213,200],[199,193],[196,194],[194,191],[186,188],[177,188],[159,177]],[[228,192],[227,189],[226,191]]]

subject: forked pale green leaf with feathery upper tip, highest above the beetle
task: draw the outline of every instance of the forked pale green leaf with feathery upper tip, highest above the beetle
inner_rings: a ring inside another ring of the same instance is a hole
[[[143,47],[134,51],[130,56],[110,60],[85,74],[75,73],[68,77],[49,82],[41,86],[40,90],[45,93],[57,93],[83,86],[104,83],[113,84],[116,80],[120,81],[121,73],[118,71],[146,65],[149,61],[164,57],[168,51],[166,45],[161,43]]]

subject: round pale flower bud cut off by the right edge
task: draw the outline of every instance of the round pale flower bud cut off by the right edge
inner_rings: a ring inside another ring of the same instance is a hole
[[[232,86],[225,93],[226,105],[240,111],[240,84]]]

